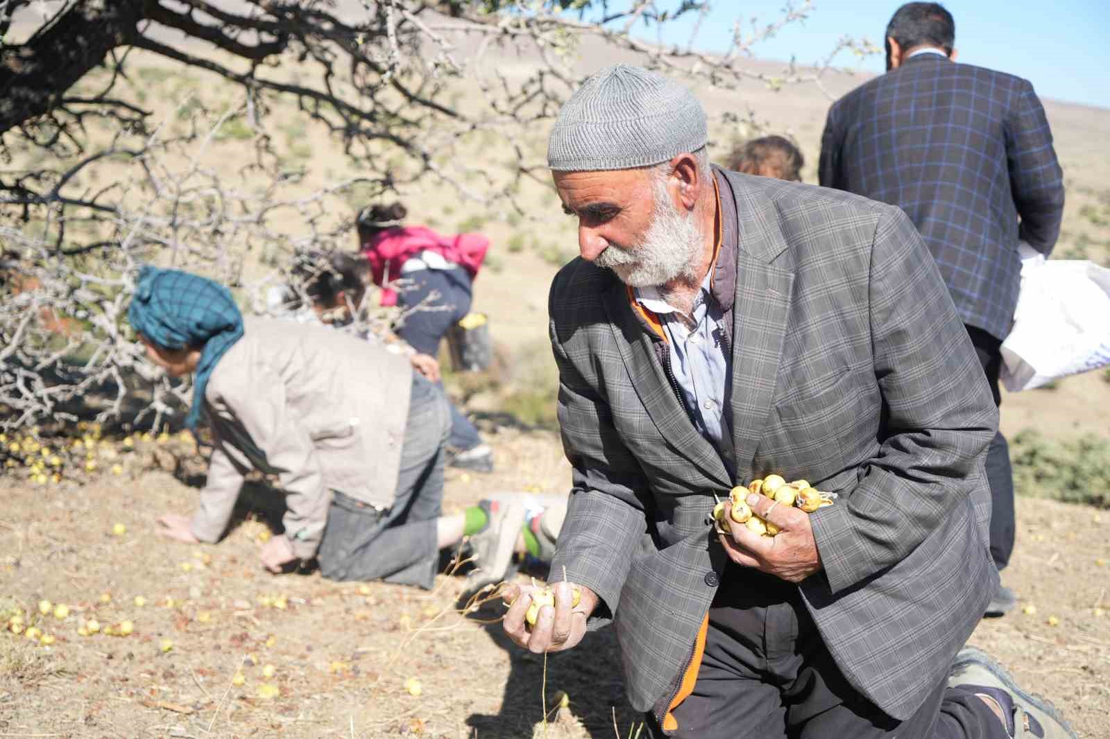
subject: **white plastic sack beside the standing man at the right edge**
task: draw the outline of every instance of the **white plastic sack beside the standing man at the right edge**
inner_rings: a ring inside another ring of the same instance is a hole
[[[1046,261],[1021,247],[1021,292],[1002,342],[1006,389],[1110,365],[1110,270],[1087,260]]]

